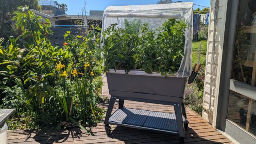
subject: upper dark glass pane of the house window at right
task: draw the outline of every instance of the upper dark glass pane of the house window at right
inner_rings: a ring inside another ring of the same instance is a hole
[[[256,6],[239,5],[231,79],[256,86]]]

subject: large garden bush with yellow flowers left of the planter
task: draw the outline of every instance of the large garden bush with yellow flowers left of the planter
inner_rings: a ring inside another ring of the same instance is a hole
[[[100,28],[92,27],[84,36],[68,31],[64,46],[53,47],[46,37],[52,34],[50,21],[41,24],[41,17],[27,7],[19,9],[12,20],[21,34],[0,46],[0,88],[5,97],[0,104],[16,108],[16,124],[9,121],[12,128],[23,128],[23,122],[31,123],[28,128],[73,122],[85,129],[78,121],[95,124],[103,117],[98,106]]]

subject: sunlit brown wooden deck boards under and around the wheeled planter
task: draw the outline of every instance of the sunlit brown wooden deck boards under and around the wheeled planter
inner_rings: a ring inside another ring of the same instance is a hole
[[[107,93],[107,86],[103,87],[103,94]],[[109,97],[108,95],[103,95]],[[107,105],[103,105],[107,107]],[[152,110],[158,112],[174,113],[172,106],[125,101],[124,107],[141,110]],[[115,103],[114,110],[117,110],[118,103]],[[113,112],[114,112],[113,110]],[[208,122],[203,120],[196,112],[186,107],[187,119],[190,122],[185,131],[186,144],[233,144],[224,135],[215,130]],[[112,126],[111,135],[107,136],[103,123],[92,128],[95,136],[90,136],[80,128],[69,130],[50,131],[25,131],[8,130],[9,144],[178,144],[178,135],[158,133],[146,130]]]

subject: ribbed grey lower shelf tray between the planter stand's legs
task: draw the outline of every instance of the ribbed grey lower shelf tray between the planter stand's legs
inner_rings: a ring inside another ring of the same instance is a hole
[[[185,118],[183,117],[184,121]],[[178,133],[175,114],[163,112],[122,108],[112,114],[108,123],[131,128]]]

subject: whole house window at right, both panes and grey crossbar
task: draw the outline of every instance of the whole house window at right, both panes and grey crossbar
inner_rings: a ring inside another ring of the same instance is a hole
[[[240,0],[227,119],[256,135],[256,0]]]

